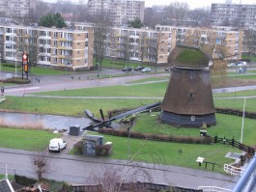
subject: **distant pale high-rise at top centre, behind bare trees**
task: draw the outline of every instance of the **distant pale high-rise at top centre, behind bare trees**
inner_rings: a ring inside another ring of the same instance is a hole
[[[88,0],[90,14],[106,13],[116,26],[126,25],[136,17],[143,22],[144,8],[144,0]]]

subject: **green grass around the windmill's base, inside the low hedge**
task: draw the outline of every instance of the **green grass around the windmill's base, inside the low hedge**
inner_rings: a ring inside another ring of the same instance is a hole
[[[185,135],[191,137],[198,137],[200,128],[175,127],[164,123],[158,123],[159,113],[156,116],[149,116],[148,114],[139,114],[135,125],[132,127],[133,131],[143,133],[155,133],[165,135]],[[208,134],[211,136],[226,137],[228,139],[234,138],[236,141],[241,140],[242,117],[231,115],[216,114],[216,125],[207,128]],[[243,143],[249,146],[256,145],[255,120],[244,120],[244,134]],[[150,127],[149,127],[149,124]]]

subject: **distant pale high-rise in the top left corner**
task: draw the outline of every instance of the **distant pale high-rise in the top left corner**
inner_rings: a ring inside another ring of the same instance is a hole
[[[30,9],[36,10],[37,0],[1,0],[0,12],[11,17],[23,17]]]

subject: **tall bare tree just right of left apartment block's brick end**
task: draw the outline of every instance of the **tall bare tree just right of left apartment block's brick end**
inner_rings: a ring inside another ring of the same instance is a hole
[[[106,13],[100,13],[94,16],[93,31],[94,31],[94,57],[95,65],[100,76],[100,69],[106,50],[106,37],[110,31],[111,23],[107,18]]]

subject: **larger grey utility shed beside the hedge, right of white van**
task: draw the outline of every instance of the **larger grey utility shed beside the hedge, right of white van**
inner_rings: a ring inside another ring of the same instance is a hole
[[[102,144],[102,135],[85,135],[83,139],[83,154],[96,156],[96,146],[100,146]]]

